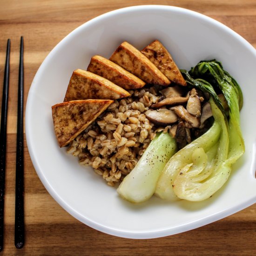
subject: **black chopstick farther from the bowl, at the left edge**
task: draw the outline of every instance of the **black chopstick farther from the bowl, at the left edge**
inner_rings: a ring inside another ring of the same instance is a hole
[[[0,127],[0,251],[4,247],[4,200],[5,200],[5,168],[6,168],[6,135],[7,135],[7,108],[10,68],[10,44],[7,40],[4,86],[2,97],[1,127]]]

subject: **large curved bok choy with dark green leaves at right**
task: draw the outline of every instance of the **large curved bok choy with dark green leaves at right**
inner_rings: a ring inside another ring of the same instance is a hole
[[[232,164],[244,153],[239,115],[243,94],[218,61],[201,61],[189,73],[182,70],[182,74],[188,85],[211,95],[215,121],[204,135],[171,157],[160,175],[155,194],[169,200],[202,201],[222,187]],[[229,121],[214,87],[221,89],[228,102]]]

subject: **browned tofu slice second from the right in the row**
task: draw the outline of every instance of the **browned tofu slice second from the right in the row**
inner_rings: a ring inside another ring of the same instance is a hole
[[[126,41],[115,50],[109,60],[148,84],[170,84],[168,78],[146,56]]]

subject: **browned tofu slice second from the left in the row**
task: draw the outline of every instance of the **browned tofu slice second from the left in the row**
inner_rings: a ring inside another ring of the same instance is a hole
[[[91,72],[76,69],[69,81],[64,101],[116,100],[131,94],[111,81]]]

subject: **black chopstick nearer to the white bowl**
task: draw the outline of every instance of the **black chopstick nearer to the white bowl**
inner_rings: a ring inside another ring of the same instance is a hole
[[[14,243],[20,249],[24,245],[24,150],[23,150],[23,37],[20,38],[20,68],[17,113],[16,185],[15,185],[15,234]]]

